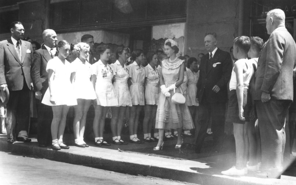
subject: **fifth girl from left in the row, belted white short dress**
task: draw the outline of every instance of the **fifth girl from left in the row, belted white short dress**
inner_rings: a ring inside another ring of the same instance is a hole
[[[141,144],[143,141],[138,139],[137,130],[139,125],[139,115],[144,102],[144,80],[145,70],[143,67],[144,52],[141,49],[136,49],[132,52],[134,62],[128,66],[130,73],[129,80],[131,81],[130,93],[133,106],[130,107],[130,117],[128,121],[128,129],[130,133],[130,143]]]

